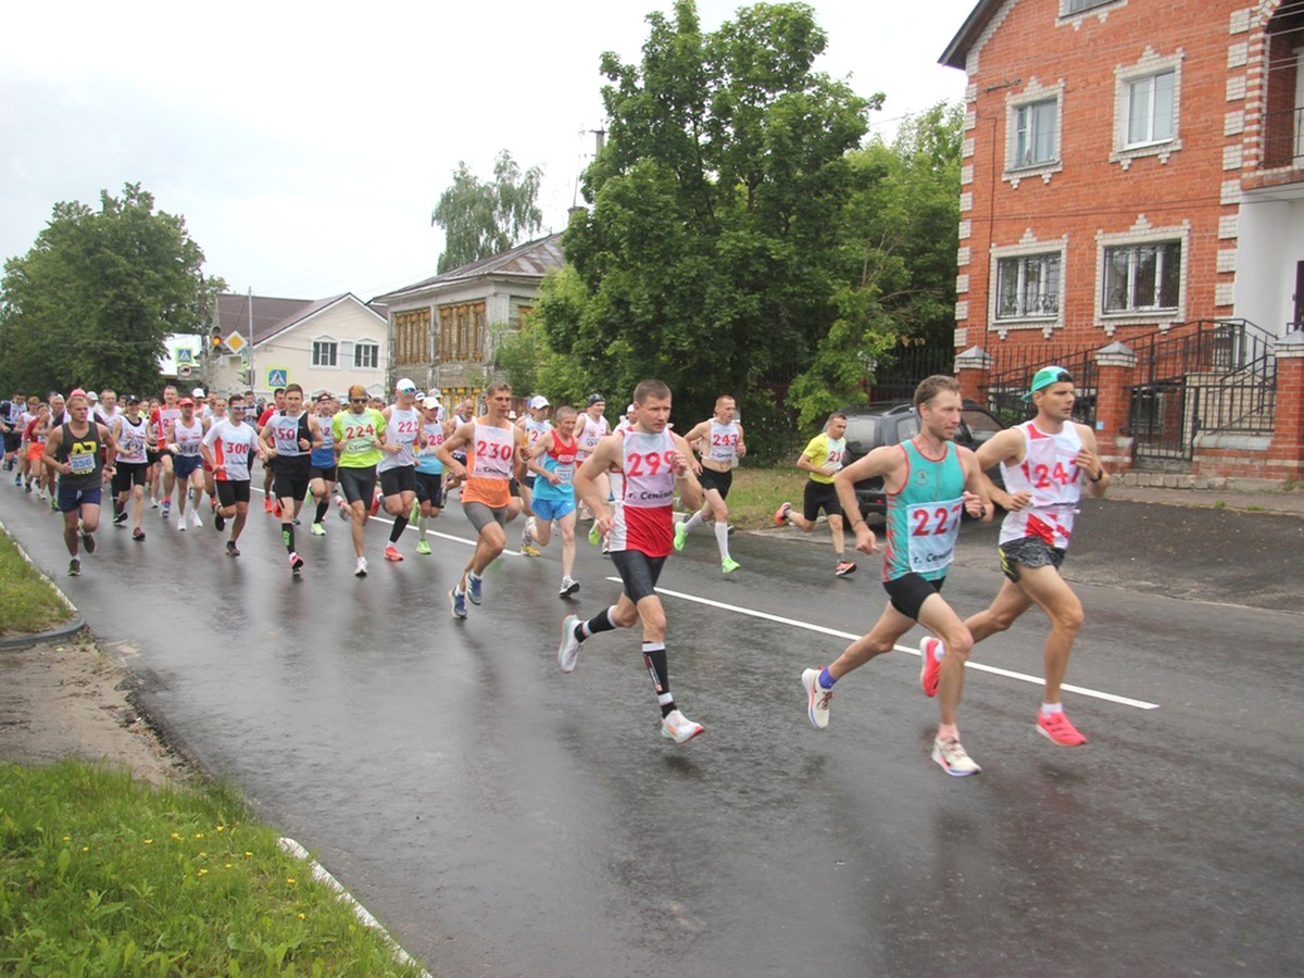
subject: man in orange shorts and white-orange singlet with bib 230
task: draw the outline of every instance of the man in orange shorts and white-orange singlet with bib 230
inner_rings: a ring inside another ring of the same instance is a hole
[[[460,425],[438,449],[436,455],[459,480],[462,511],[475,527],[476,549],[462,570],[462,578],[449,592],[455,618],[467,617],[467,600],[482,601],[484,572],[507,545],[507,510],[511,506],[509,482],[523,467],[526,433],[507,420],[511,411],[511,385],[494,381],[485,389],[488,412],[469,424]],[[463,466],[452,452],[466,449]]]

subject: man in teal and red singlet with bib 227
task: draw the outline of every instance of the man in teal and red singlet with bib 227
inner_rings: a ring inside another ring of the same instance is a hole
[[[973,644],[969,630],[940,593],[955,557],[962,511],[991,519],[982,469],[969,449],[952,441],[960,428],[961,403],[955,378],[938,374],[921,381],[914,390],[919,433],[904,445],[875,449],[835,477],[842,506],[855,514],[852,522],[855,549],[874,553],[874,532],[855,507],[855,484],[883,476],[888,501],[883,589],[888,592],[888,605],[874,627],[848,645],[835,662],[802,673],[806,713],[818,730],[828,726],[833,683],[875,656],[891,652],[915,622],[955,649],[956,660],[962,660]],[[981,768],[960,745],[957,695],[952,695],[956,670],[957,666],[948,666],[943,679],[941,722],[932,741],[932,759],[948,775],[962,777],[977,775]]]

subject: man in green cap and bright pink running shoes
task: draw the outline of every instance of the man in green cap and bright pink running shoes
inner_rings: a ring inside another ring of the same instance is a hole
[[[991,494],[1007,512],[1000,526],[1000,567],[1007,580],[991,605],[965,621],[974,643],[1005,631],[1034,604],[1051,619],[1046,636],[1046,692],[1037,713],[1037,730],[1064,747],[1086,743],[1086,737],[1064,716],[1060,685],[1068,672],[1073,640],[1082,627],[1082,602],[1060,575],[1060,565],[1073,536],[1073,516],[1082,486],[1093,499],[1110,488],[1110,473],[1097,454],[1095,432],[1073,421],[1073,377],[1061,366],[1046,366],[1033,377],[1024,395],[1037,406],[1037,417],[994,434],[978,449],[978,464],[1000,463],[1005,489]],[[964,686],[964,662],[969,648],[953,649],[945,639],[928,643],[925,692],[930,690],[927,660],[941,660],[943,695],[947,694],[945,662],[955,678],[958,703]],[[938,666],[931,672],[936,674]],[[931,692],[928,695],[932,695]]]

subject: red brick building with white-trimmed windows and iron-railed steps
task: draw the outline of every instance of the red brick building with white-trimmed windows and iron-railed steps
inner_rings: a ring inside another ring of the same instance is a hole
[[[1078,376],[1116,468],[1300,479],[1304,0],[981,0],[957,368]]]

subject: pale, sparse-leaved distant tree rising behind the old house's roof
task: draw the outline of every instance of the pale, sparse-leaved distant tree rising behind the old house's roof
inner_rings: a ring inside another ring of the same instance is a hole
[[[493,164],[493,183],[482,183],[464,162],[452,173],[452,185],[443,192],[430,223],[443,228],[443,253],[438,271],[490,258],[520,244],[524,235],[544,226],[535,201],[544,171],[531,167],[524,173],[507,150]]]

